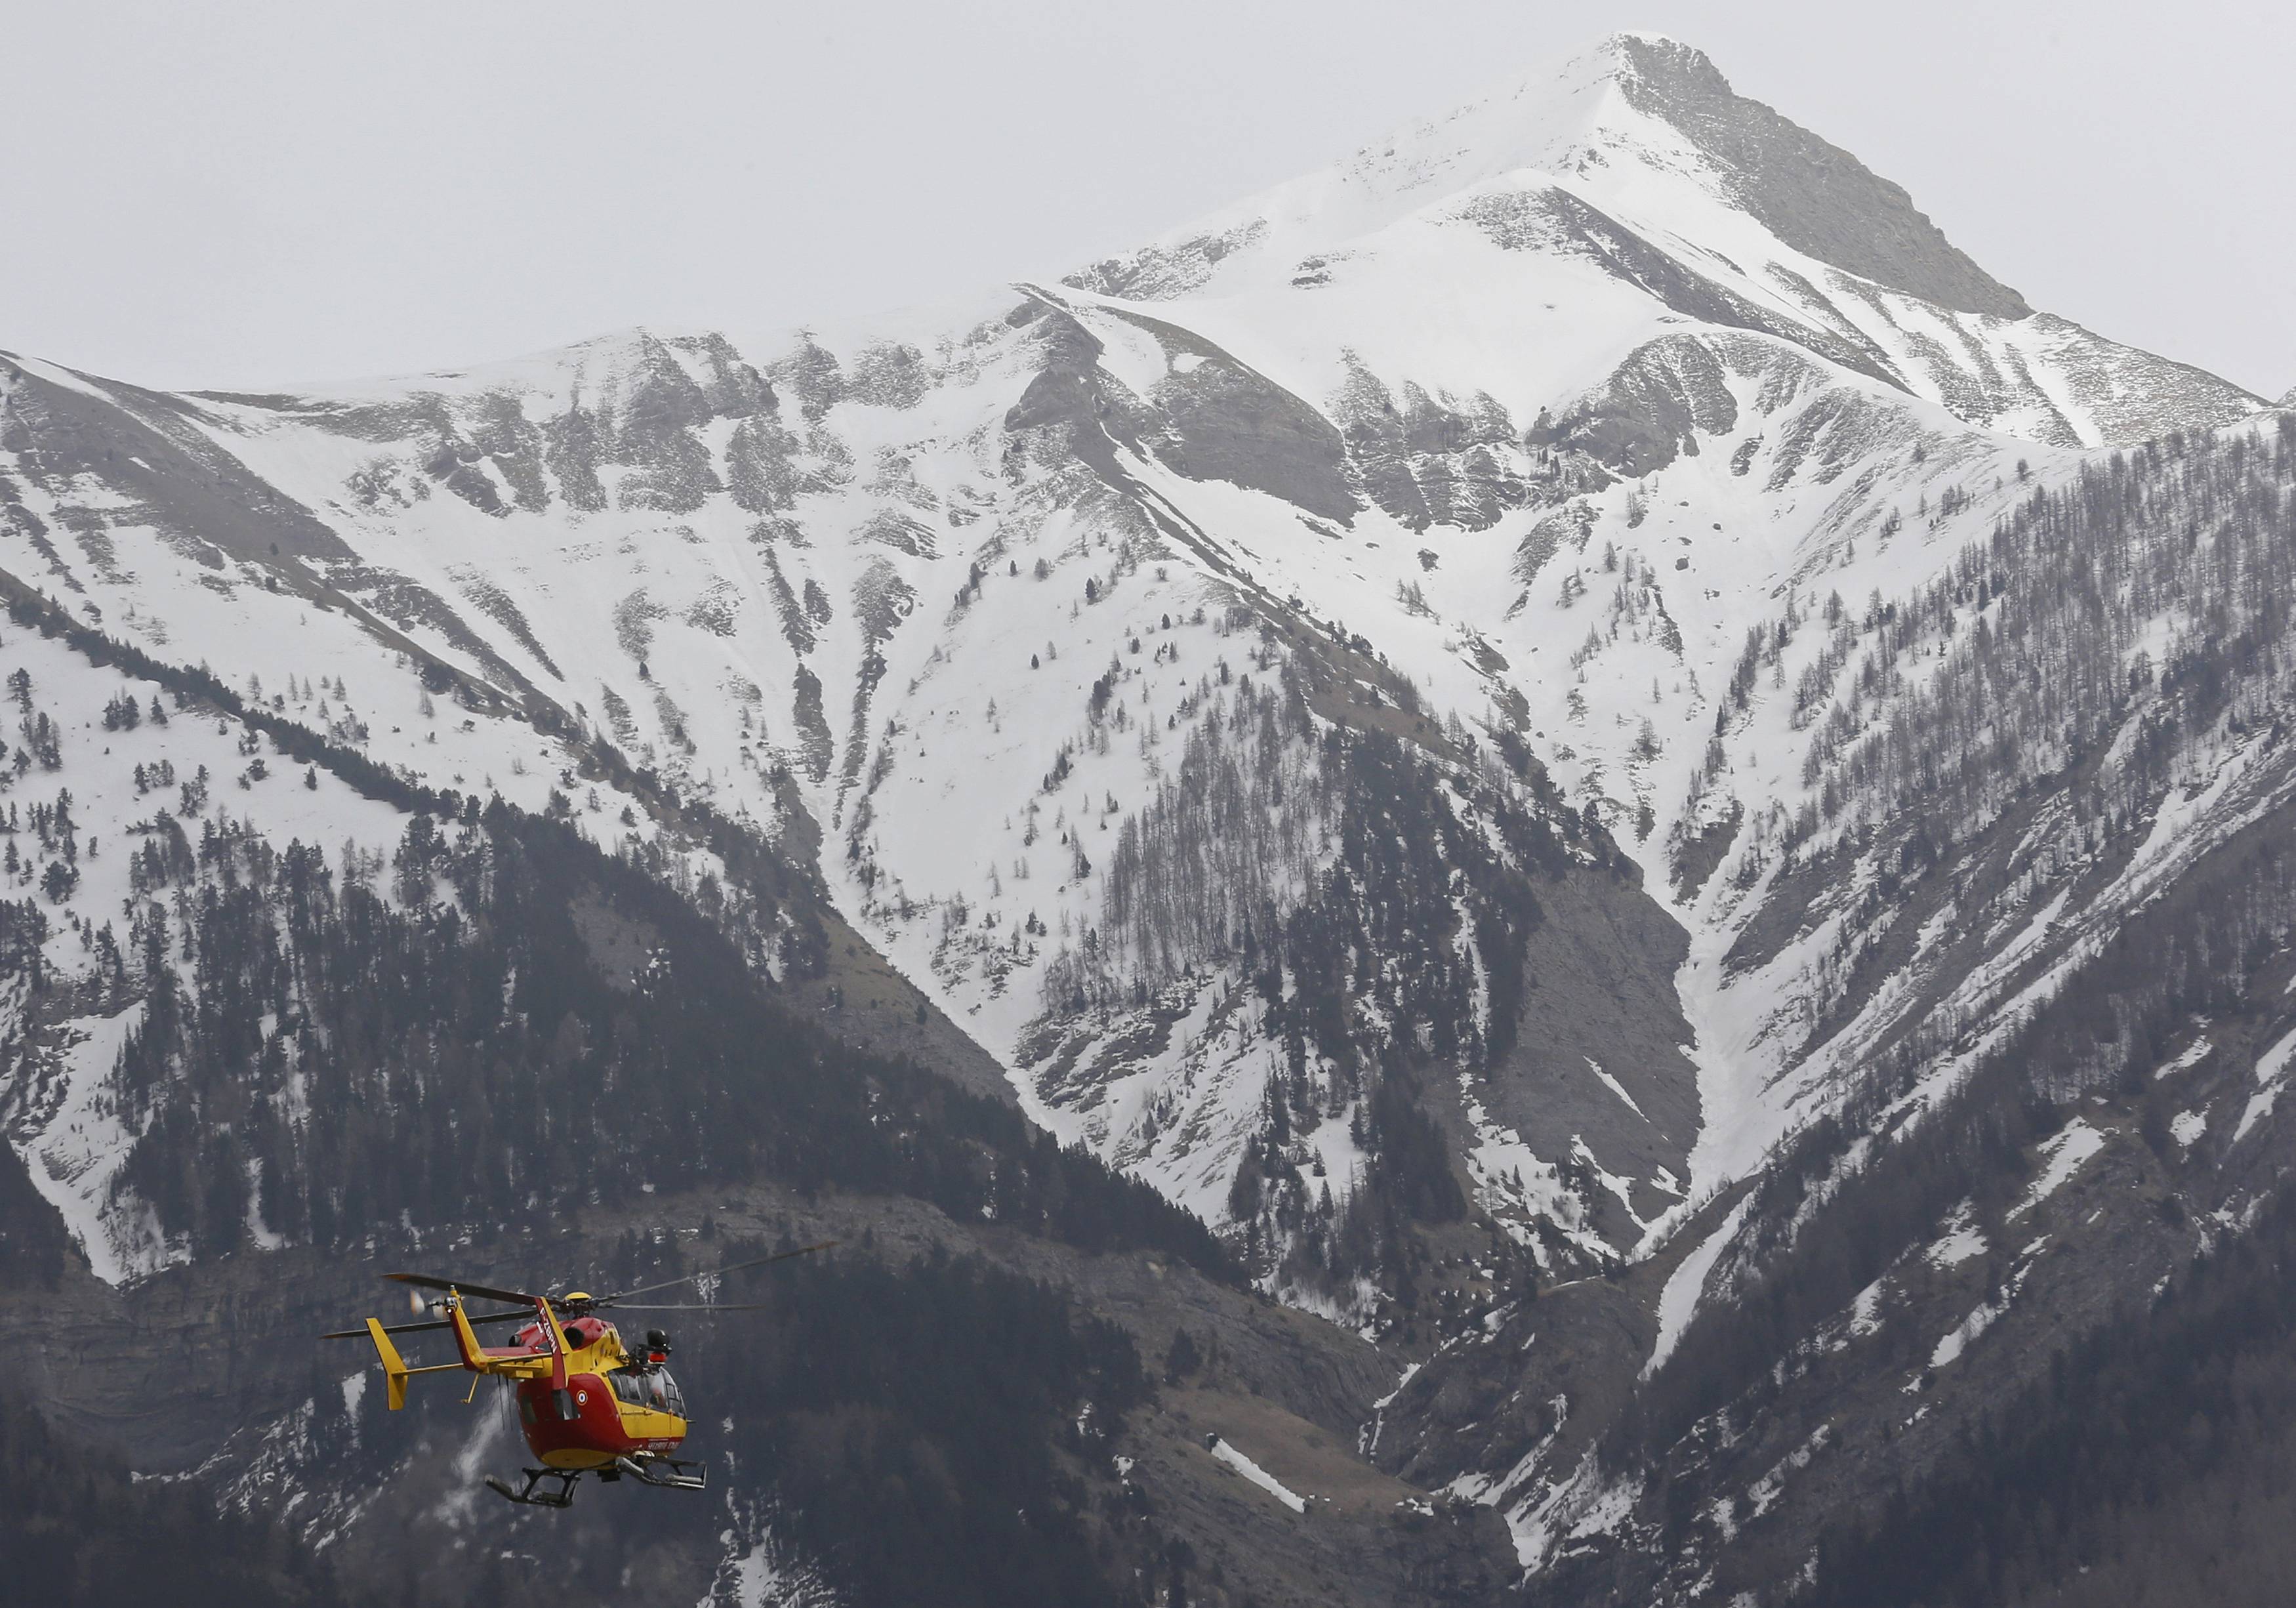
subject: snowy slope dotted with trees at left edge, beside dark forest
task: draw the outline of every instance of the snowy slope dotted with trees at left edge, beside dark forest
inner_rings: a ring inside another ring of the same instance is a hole
[[[92,664],[37,625],[37,616],[18,611],[0,627],[14,733],[0,751],[0,1130],[90,1270],[124,1284],[193,1257],[188,1236],[163,1231],[124,1172],[152,1112],[133,1110],[115,1077],[122,1050],[142,1031],[152,972],[163,967],[188,988],[193,928],[214,919],[211,907],[170,894],[170,884],[230,889],[241,878],[269,878],[282,855],[298,850],[344,889],[377,884],[406,813],[333,770],[296,763],[273,730],[331,733],[340,747],[363,747],[377,705],[388,708],[388,694],[370,696],[370,687],[390,678],[358,655],[331,659],[305,639],[301,673],[278,675],[269,694],[255,673],[236,689],[243,708],[273,717],[264,728],[243,714],[186,708],[181,687]],[[374,680],[360,685],[354,675]],[[418,698],[432,703],[420,689]],[[464,724],[436,721],[473,742]],[[519,733],[535,742],[523,726]],[[514,767],[505,770],[514,786],[523,774],[519,747],[494,753]],[[611,781],[599,788],[599,813],[638,804]],[[631,848],[659,838],[652,820],[613,832]],[[721,871],[693,850],[682,850],[677,864],[687,875]],[[301,1110],[298,1057],[310,1045],[278,1020],[271,1036],[289,1089],[282,1103]],[[253,1174],[246,1240],[285,1243],[264,1222]]]

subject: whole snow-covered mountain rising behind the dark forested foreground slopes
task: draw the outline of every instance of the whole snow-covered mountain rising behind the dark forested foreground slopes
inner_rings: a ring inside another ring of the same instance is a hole
[[[294,395],[5,358],[0,565],[406,781],[797,861],[1040,1126],[1440,1342],[1364,1445],[1543,1569],[1635,1523],[1605,1413],[1791,1252],[1782,1158],[1846,1188],[2280,811],[2268,609],[2211,570],[2257,533],[2161,547],[2287,517],[2275,430],[1621,34],[856,328]],[[126,1277],[168,1247],[96,1199],[90,1057],[11,1139]],[[1623,1376],[1453,1351],[1626,1263]]]

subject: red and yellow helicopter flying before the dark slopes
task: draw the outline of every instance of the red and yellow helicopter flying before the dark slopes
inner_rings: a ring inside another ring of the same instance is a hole
[[[416,1374],[468,1371],[514,1381],[519,1392],[519,1427],[526,1431],[526,1445],[542,1468],[528,1468],[526,1484],[519,1489],[512,1489],[507,1479],[487,1475],[487,1486],[512,1502],[569,1507],[574,1502],[574,1484],[592,1472],[608,1482],[627,1475],[638,1484],[664,1491],[700,1491],[707,1482],[707,1468],[673,1456],[687,1438],[687,1399],[666,1367],[670,1360],[670,1337],[661,1330],[647,1330],[645,1344],[631,1351],[622,1342],[622,1332],[597,1314],[611,1307],[622,1312],[755,1312],[765,1302],[625,1302],[631,1296],[652,1296],[680,1284],[693,1284],[696,1280],[762,1268],[790,1257],[808,1257],[831,1245],[836,1240],[801,1245],[774,1257],[689,1273],[659,1284],[641,1284],[611,1296],[590,1296],[585,1291],[530,1296],[517,1289],[487,1289],[484,1284],[441,1280],[427,1273],[386,1273],[386,1280],[413,1289],[443,1291],[439,1300],[427,1305],[445,1316],[425,1323],[381,1323],[379,1319],[367,1319],[365,1328],[335,1330],[321,1339],[374,1342],[374,1351],[383,1360],[383,1385],[393,1413],[406,1406],[406,1381]],[[464,1309],[466,1300],[510,1302],[512,1312],[471,1314]],[[425,1302],[416,1298],[416,1305]],[[510,1335],[507,1346],[482,1346],[478,1330],[491,1323],[519,1323],[521,1328]],[[409,1367],[390,1337],[422,1330],[452,1330],[459,1360]],[[471,1394],[478,1394],[478,1378],[471,1381]],[[542,1489],[544,1482],[556,1484]]]

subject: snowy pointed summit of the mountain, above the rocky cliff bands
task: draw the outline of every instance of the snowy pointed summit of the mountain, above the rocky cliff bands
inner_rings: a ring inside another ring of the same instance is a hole
[[[1357,365],[1525,420],[1667,326],[1754,328],[1968,423],[2057,446],[2259,407],[2048,315],[1901,188],[1669,39],[1559,67],[1075,276],[1300,395]],[[1352,356],[1350,356],[1352,354]]]

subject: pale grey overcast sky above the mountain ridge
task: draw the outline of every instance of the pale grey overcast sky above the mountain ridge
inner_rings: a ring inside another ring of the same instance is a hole
[[[0,0],[0,347],[154,386],[1049,276],[1619,28],[2034,306],[2296,384],[2296,7]]]

